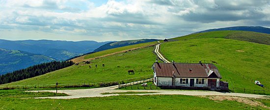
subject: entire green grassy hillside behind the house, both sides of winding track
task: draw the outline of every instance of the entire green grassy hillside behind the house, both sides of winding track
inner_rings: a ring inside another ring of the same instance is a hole
[[[233,32],[235,35],[240,35],[243,32],[246,33],[245,31],[220,31],[199,33],[201,36],[199,36],[199,34],[193,34],[178,37],[175,39],[181,39],[181,41],[162,44],[161,52],[168,60],[174,60],[176,62],[185,60],[213,60],[217,62],[218,65],[216,66],[222,75],[222,80],[229,82],[231,88],[262,89],[251,81],[243,79],[242,76],[252,79],[253,81],[259,80],[266,87],[270,86],[270,83],[267,81],[270,72],[267,69],[270,66],[268,61],[268,59],[270,59],[270,51],[268,51],[270,50],[270,46],[238,40],[220,39],[224,38],[224,35],[229,35]],[[260,33],[258,35],[260,35]],[[156,42],[150,42],[108,49],[82,56],[82,58],[96,58],[131,48],[153,45],[155,43]],[[89,65],[80,63],[79,66],[70,66],[48,74],[1,86],[54,84],[55,82],[59,84],[71,84],[84,79],[87,80],[86,83],[98,83],[149,75],[152,74],[151,66],[157,57],[152,52],[153,48],[154,47],[146,47],[128,51],[127,53],[117,53],[94,59],[91,60],[90,64],[92,68],[89,68]],[[98,67],[95,67],[96,64]],[[101,67],[102,64],[105,64],[105,67]],[[232,69],[232,71],[237,71],[237,74],[219,66],[220,64]],[[130,69],[135,70],[135,75],[129,75],[127,73]]]

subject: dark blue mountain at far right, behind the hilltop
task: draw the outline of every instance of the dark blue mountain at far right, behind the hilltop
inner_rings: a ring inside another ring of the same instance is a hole
[[[270,34],[270,28],[262,27],[262,26],[234,26],[234,27],[216,28],[216,29],[208,29],[204,31],[195,32],[192,34],[210,32],[210,31],[222,31],[222,30],[252,31],[252,32]]]

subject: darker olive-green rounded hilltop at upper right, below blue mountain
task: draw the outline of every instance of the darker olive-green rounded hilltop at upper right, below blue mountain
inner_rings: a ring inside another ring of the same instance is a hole
[[[187,36],[172,39],[189,40],[201,38],[224,38],[270,45],[270,34],[250,32],[250,31],[212,31],[212,32],[190,34]]]

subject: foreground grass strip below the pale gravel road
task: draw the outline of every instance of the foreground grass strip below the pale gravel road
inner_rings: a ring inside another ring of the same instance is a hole
[[[1,93],[1,91],[0,91]],[[35,96],[33,96],[35,97]],[[270,100],[261,101],[264,105]],[[214,101],[208,98],[185,95],[120,95],[79,99],[21,99],[3,96],[3,110],[262,110],[237,101]]]

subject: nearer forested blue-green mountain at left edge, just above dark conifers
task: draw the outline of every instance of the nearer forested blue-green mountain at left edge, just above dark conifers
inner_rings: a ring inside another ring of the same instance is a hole
[[[52,61],[53,58],[45,55],[0,48],[0,74]]]

